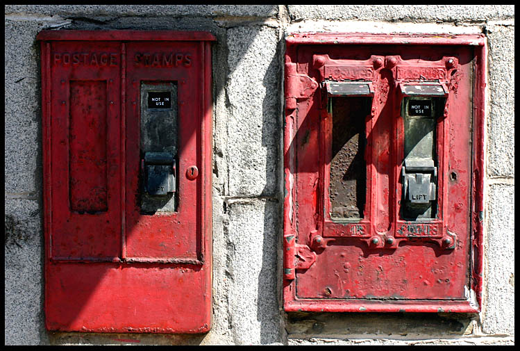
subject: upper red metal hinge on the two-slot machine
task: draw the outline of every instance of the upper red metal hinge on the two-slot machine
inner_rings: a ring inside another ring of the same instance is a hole
[[[294,110],[296,99],[308,99],[317,88],[317,81],[296,72],[296,63],[285,63],[285,108]]]

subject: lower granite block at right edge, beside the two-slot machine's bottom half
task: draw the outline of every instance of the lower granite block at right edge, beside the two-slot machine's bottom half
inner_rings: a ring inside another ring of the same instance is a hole
[[[489,186],[485,250],[486,334],[514,335],[514,186]]]

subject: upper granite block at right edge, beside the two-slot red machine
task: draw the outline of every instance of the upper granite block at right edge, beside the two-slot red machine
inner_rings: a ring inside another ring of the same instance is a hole
[[[514,177],[514,23],[486,26],[489,43],[487,172]]]

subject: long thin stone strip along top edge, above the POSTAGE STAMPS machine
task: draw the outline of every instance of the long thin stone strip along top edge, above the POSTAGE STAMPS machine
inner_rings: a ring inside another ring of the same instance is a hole
[[[110,16],[254,16],[271,17],[277,5],[6,5],[5,13],[38,15],[110,15]]]

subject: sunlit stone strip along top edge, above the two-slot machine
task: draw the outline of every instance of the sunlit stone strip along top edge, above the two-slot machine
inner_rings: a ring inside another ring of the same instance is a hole
[[[457,22],[514,18],[513,5],[288,5],[292,20]]]

